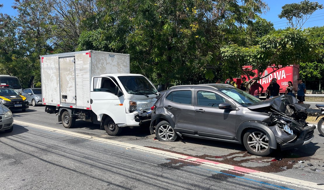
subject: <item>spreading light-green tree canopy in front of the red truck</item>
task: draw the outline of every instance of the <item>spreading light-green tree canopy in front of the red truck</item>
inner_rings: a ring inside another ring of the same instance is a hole
[[[224,46],[221,49],[224,59],[223,70],[225,77],[240,72],[248,76],[248,84],[275,72],[280,66],[307,62],[318,57],[323,50],[309,38],[309,32],[295,29],[281,30],[259,39],[254,46],[242,47],[237,44]],[[251,65],[252,68],[244,68]],[[273,71],[261,76],[269,67]],[[257,75],[252,70],[257,69]]]

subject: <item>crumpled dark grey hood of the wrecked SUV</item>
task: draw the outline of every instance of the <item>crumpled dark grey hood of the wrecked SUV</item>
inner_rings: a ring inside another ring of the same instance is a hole
[[[290,95],[280,95],[268,100],[260,101],[258,103],[252,104],[248,106],[250,110],[272,107],[278,112],[287,113],[287,105],[291,105],[290,107],[294,107],[297,112],[306,112],[309,108],[310,104],[299,104],[298,100]]]

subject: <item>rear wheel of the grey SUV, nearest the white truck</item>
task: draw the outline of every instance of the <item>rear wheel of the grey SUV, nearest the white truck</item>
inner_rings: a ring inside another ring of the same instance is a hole
[[[155,135],[159,141],[165,142],[173,142],[178,136],[167,121],[161,121],[156,125]]]

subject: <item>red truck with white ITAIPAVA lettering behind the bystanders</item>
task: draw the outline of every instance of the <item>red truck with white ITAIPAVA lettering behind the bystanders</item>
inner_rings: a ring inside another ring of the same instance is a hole
[[[244,66],[244,68],[251,68],[251,66]],[[275,72],[273,72],[275,70]],[[257,74],[257,70],[252,70],[254,73]],[[271,73],[272,72],[272,73]],[[261,78],[258,82],[263,86],[263,91],[260,96],[260,98],[265,99],[267,94],[265,93],[267,87],[270,85],[270,82],[272,78],[277,78],[277,83],[280,85],[279,93],[283,94],[286,90],[286,87],[288,86],[288,81],[292,81],[294,87],[298,88],[298,77],[299,77],[299,65],[289,65],[286,67],[281,67],[279,69],[275,69],[273,67],[268,67],[264,73],[262,73],[262,77],[268,75],[271,73],[268,77]],[[246,77],[247,81],[249,78],[245,75],[242,75],[241,77]]]

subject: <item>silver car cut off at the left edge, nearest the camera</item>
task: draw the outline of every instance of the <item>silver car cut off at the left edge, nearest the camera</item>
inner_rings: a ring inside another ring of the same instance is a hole
[[[11,111],[0,103],[0,131],[11,132],[14,129],[14,118]]]

